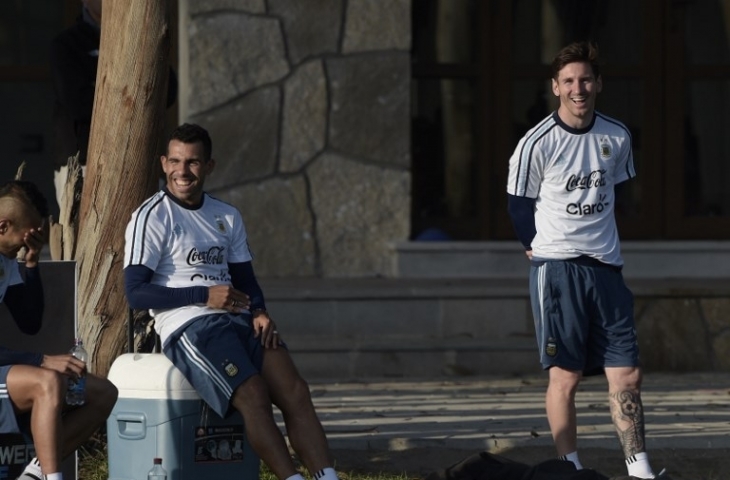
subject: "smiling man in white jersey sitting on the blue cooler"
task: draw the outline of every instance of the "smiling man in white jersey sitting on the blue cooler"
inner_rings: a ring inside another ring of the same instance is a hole
[[[240,212],[203,191],[212,142],[198,125],[171,135],[166,186],[127,226],[124,283],[132,308],[151,309],[163,352],[220,416],[243,416],[254,451],[279,479],[303,480],[289,441],[316,480],[336,480],[327,440],[301,378],[266,313]]]

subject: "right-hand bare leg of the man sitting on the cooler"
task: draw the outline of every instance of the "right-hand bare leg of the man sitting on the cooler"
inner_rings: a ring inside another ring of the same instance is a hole
[[[284,348],[266,349],[261,375],[274,404],[284,416],[289,442],[307,470],[315,474],[332,467],[327,438],[317,417],[309,385]]]

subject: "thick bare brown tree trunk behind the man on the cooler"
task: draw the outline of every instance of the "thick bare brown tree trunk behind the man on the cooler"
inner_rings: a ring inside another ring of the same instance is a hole
[[[168,0],[104,2],[76,261],[79,334],[89,369],[106,375],[124,352],[124,230],[157,186],[157,146],[165,118],[170,28]]]

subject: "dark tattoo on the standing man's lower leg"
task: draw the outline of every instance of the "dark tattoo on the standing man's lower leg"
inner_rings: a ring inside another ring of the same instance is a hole
[[[637,391],[624,390],[609,394],[611,420],[626,458],[644,450],[644,407]]]

